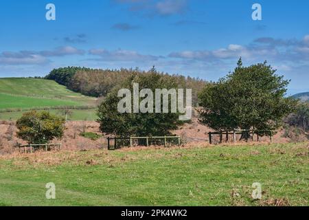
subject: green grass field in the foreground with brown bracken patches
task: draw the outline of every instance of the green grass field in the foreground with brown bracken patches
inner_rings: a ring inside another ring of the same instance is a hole
[[[0,157],[0,205],[308,206],[308,151],[301,143]],[[54,200],[45,198],[49,182]]]

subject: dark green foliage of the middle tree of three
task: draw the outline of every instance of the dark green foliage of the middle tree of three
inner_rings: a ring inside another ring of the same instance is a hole
[[[154,94],[155,89],[177,88],[177,82],[172,76],[153,71],[145,74],[130,74],[122,86],[113,89],[100,104],[98,122],[100,122],[101,131],[107,134],[128,137],[130,135],[168,135],[171,130],[177,129],[181,124],[179,122],[179,113],[119,113],[117,111],[117,104],[122,99],[117,97],[118,90],[120,88],[130,89],[133,94],[133,83],[139,83],[140,90],[144,88],[151,89]]]

